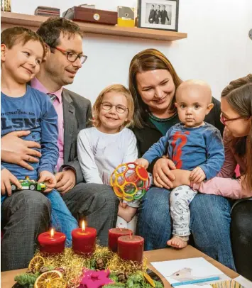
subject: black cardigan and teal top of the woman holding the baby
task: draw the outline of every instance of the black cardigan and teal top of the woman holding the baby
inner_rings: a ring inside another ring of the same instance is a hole
[[[221,135],[224,131],[224,125],[220,121],[221,114],[221,104],[220,102],[213,98],[212,103],[214,104],[214,108],[210,113],[205,117],[204,121],[209,124],[215,126],[219,131],[221,131]],[[133,133],[136,135],[137,145],[138,145],[138,157],[141,157],[146,151],[152,146],[154,143],[158,142],[158,140],[165,135],[165,133],[175,125],[176,123],[180,123],[180,119],[177,114],[167,119],[159,119],[160,123],[158,123],[158,118],[148,115],[146,118],[146,125],[143,128],[133,128]],[[165,131],[165,128],[167,129]],[[149,171],[153,170],[153,165],[158,159],[154,160],[150,167]]]

